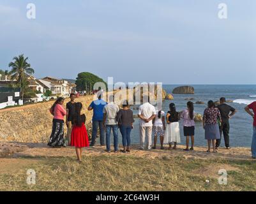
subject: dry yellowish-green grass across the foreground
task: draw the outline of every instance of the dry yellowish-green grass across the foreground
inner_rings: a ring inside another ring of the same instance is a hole
[[[29,159],[29,158],[22,158]],[[0,191],[255,191],[256,163],[135,156],[84,156],[41,159],[0,175]],[[215,166],[229,165],[228,184],[218,184]],[[26,184],[26,171],[36,171],[36,184]],[[199,174],[195,173],[200,170]],[[207,170],[204,172],[204,170]],[[211,172],[211,173],[207,173]],[[209,180],[209,183],[206,182]]]

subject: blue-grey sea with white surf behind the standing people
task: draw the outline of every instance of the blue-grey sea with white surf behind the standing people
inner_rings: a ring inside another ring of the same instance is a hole
[[[179,85],[163,85],[167,93]],[[204,105],[195,104],[195,112],[203,115],[210,99],[217,101],[220,97],[232,100],[234,103],[228,103],[237,109],[236,115],[230,119],[230,147],[250,147],[252,142],[252,123],[253,119],[245,112],[245,106],[256,101],[256,85],[192,85],[195,88],[195,94],[174,94],[173,100],[163,101],[163,111],[169,110],[169,103],[175,103],[177,111],[184,110],[188,101],[185,98],[194,98],[193,102],[204,101]],[[137,114],[137,110],[133,110]],[[180,121],[181,144],[184,145],[182,120]],[[139,143],[139,119],[135,119],[134,128],[131,133],[132,143]],[[121,143],[121,133],[119,133],[119,143]],[[158,139],[159,144],[159,139]],[[195,126],[195,145],[206,146],[204,139],[204,129],[202,122],[197,122]],[[221,147],[224,147],[222,136]]]

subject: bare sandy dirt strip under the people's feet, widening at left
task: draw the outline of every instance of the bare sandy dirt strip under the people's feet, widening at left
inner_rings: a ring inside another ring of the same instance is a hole
[[[73,147],[65,147],[61,149],[53,149],[47,147],[45,143],[15,143],[16,145],[26,145],[27,148],[22,152],[16,152],[8,158],[0,157],[0,173],[13,173],[19,171],[24,166],[30,166],[35,163],[49,163],[54,162],[57,157],[73,157],[76,158],[75,149]],[[177,150],[168,150],[167,146],[164,150],[139,150],[138,145],[132,146],[130,153],[114,153],[105,152],[105,147],[96,145],[94,147],[87,147],[84,149],[84,156],[100,156],[105,154],[107,156],[135,156],[147,158],[172,158],[183,157],[186,159],[230,159],[230,160],[247,160],[251,159],[251,152],[248,148],[236,147],[230,150],[219,149],[218,153],[207,153],[206,147],[195,147],[195,150],[184,152],[184,146],[179,145]],[[121,147],[120,147],[121,149]],[[216,166],[215,166],[216,167]],[[206,170],[204,170],[206,171]],[[196,172],[195,172],[196,173]],[[199,172],[200,173],[200,172]]]

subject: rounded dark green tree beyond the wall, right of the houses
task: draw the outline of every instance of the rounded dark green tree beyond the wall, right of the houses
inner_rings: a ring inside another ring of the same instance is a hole
[[[104,82],[104,80],[96,75],[93,75],[89,72],[82,72],[77,75],[77,80],[75,84],[77,84],[77,91],[92,91],[93,85],[96,82],[103,82],[105,84],[105,87],[107,87],[107,83]],[[103,87],[102,87],[103,88]]]

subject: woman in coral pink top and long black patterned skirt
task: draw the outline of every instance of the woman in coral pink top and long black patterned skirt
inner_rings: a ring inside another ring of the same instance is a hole
[[[66,115],[66,110],[63,103],[64,98],[59,97],[50,108],[50,113],[54,116],[52,120],[52,134],[48,142],[50,147],[66,146],[64,142],[64,116]]]

